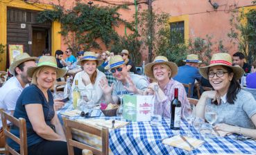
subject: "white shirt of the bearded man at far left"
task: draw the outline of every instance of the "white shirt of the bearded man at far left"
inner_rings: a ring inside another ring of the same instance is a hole
[[[28,84],[26,84],[26,86],[28,86]],[[6,83],[0,88],[0,109],[4,109],[7,113],[14,111],[16,102],[23,89],[24,88],[16,77],[12,77],[6,81]],[[2,121],[0,121],[0,129],[2,126]]]

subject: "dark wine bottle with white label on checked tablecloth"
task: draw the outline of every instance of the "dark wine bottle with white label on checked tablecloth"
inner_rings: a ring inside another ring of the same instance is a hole
[[[178,88],[174,89],[174,99],[171,101],[171,129],[180,129],[181,103],[178,100]]]

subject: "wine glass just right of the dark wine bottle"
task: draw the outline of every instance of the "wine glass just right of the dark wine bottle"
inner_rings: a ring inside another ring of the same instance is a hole
[[[187,136],[189,136],[189,137],[193,136],[193,134],[191,133],[191,124],[195,118],[194,113],[193,113],[194,107],[195,107],[194,104],[190,104],[189,109],[183,108],[183,112],[182,112],[182,116],[187,121],[187,124],[188,124]]]

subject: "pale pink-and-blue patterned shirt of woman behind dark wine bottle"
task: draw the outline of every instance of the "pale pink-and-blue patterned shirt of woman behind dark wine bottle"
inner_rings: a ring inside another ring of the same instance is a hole
[[[174,98],[174,89],[178,88],[178,100],[181,102],[181,110],[183,112],[184,108],[189,109],[189,100],[187,99],[187,93],[184,86],[171,78],[166,86],[164,86],[164,94],[167,96],[167,100],[163,100],[159,104],[157,104],[157,113],[170,118],[171,111],[171,100]]]

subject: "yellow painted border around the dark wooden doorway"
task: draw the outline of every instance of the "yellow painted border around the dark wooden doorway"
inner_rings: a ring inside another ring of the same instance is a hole
[[[7,7],[15,7],[15,8],[21,8],[21,9],[27,9],[27,10],[45,10],[45,9],[53,9],[53,6],[49,4],[42,4],[42,3],[25,3],[24,1],[20,0],[3,0],[0,1],[0,44],[7,44]],[[60,31],[60,23],[57,21],[54,21],[51,26],[51,51],[52,54],[55,53],[57,49],[60,49],[60,39],[61,35],[58,33]],[[3,53],[0,55],[0,57],[3,59],[2,62],[0,62],[0,71],[3,71],[6,69],[6,53]]]

